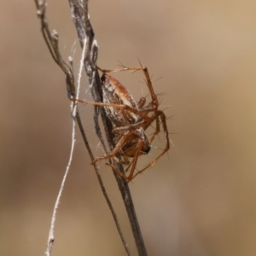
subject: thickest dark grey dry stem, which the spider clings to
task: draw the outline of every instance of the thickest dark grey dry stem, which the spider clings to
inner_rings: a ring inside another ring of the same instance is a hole
[[[90,82],[91,93],[92,93],[92,96],[94,97],[95,102],[102,102],[101,80],[96,68],[97,45],[94,39],[93,28],[90,24],[89,13],[88,13],[88,0],[84,0],[80,2],[78,2],[78,0],[69,0],[69,3],[71,6],[73,22],[77,29],[79,42],[82,47],[83,47],[84,37],[89,38],[87,40],[87,44],[88,44],[88,55],[90,55],[90,57],[86,58],[85,56],[84,67]],[[87,61],[89,60],[89,61],[86,62],[86,60]],[[96,133],[102,142],[103,148],[105,149],[105,153],[108,154],[107,148],[102,139],[102,133],[98,123],[99,113],[101,113],[101,116],[102,116],[102,123],[104,126],[104,131],[106,133],[108,146],[110,150],[113,149],[113,133],[112,133],[113,125],[107,118],[104,108],[95,106],[95,110],[96,111],[95,111],[94,120],[95,120]],[[124,167],[122,165],[116,164],[116,167],[120,170],[120,172],[125,173]],[[133,206],[128,184],[116,172],[113,171],[113,174],[116,177],[117,183],[119,185],[119,190],[121,192],[123,201],[125,203],[126,212],[128,214],[128,218],[131,224],[131,230],[132,230],[134,239],[136,241],[138,255],[146,256],[147,251],[143,242],[143,236],[140,230],[140,226],[137,221],[137,215]]]

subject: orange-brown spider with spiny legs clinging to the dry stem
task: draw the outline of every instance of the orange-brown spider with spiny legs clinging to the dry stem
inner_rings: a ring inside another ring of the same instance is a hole
[[[98,160],[107,159],[112,159],[115,162],[124,164],[127,166],[125,173],[130,171],[128,176],[126,176],[123,172],[120,172],[117,166],[106,163],[106,165],[112,166],[113,170],[118,172],[119,175],[125,178],[127,182],[130,182],[134,177],[137,177],[139,173],[142,173],[149,167],[154,166],[160,157],[163,154],[166,154],[166,152],[169,150],[170,143],[168,137],[169,133],[166,125],[166,115],[163,113],[163,111],[158,109],[158,98],[154,93],[147,67],[140,65],[140,67],[123,66],[119,69],[97,68],[102,72],[101,84],[103,102],[88,102],[77,99],[74,100],[104,108],[108,119],[110,119],[113,125],[115,125],[113,128],[113,150],[108,153],[108,155],[97,157],[92,164],[95,164]],[[136,102],[124,85],[120,84],[118,80],[108,75],[108,73],[124,71],[143,71],[151,97],[151,101],[148,103],[148,105],[145,105],[145,97],[141,97],[140,100]],[[156,124],[155,131],[148,139],[145,131],[154,121]],[[162,125],[165,133],[166,147],[154,160],[151,160],[146,166],[143,167],[143,169],[135,173],[138,157],[142,154],[148,154],[154,137],[160,132],[160,125]]]

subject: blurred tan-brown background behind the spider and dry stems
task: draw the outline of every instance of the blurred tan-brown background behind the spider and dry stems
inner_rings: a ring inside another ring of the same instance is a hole
[[[1,2],[0,254],[44,255],[71,144],[66,84],[33,1]],[[98,65],[134,67],[138,57],[172,116],[169,156],[131,183],[150,256],[256,254],[255,9],[253,0],[90,1]],[[49,1],[47,15],[62,54],[78,68],[67,1]],[[142,74],[117,77],[137,99],[147,94]],[[85,77],[82,85],[81,97],[90,98]],[[82,106],[81,113],[101,155],[92,108]],[[104,165],[101,172],[137,255],[113,174]],[[79,132],[53,255],[125,255]]]

